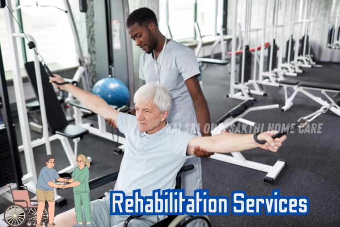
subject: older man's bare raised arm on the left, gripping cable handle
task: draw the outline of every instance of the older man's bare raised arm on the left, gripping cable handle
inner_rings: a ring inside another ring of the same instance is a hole
[[[54,74],[54,77],[51,77],[50,83],[52,83],[53,87],[68,91],[92,112],[101,115],[105,119],[110,118],[113,121],[117,122],[117,116],[119,112],[108,105],[101,97],[71,84],[59,86],[53,82],[65,82],[65,80],[61,76]]]

